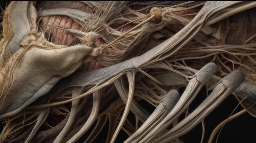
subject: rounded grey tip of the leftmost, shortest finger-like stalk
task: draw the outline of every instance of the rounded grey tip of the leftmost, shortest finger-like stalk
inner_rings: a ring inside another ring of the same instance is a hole
[[[173,89],[164,97],[163,106],[166,107],[166,109],[171,110],[176,105],[179,99],[179,92]]]

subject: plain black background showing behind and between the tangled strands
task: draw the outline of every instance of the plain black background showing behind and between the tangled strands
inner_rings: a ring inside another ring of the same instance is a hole
[[[4,9],[7,0],[1,0],[1,7]],[[2,20],[0,20],[2,21]],[[181,89],[180,93],[184,90]],[[190,106],[189,111],[193,111],[206,97],[206,90],[201,90],[198,97],[196,97],[195,101]],[[146,102],[141,102],[144,108],[148,109],[150,112],[153,112],[154,108],[150,106]],[[238,101],[233,95],[227,97],[227,99],[220,104],[211,114],[208,115],[204,119],[205,123],[205,136],[204,136],[204,143],[207,143],[209,136],[211,135],[212,130],[223,120],[227,119],[234,108],[237,106]],[[233,114],[243,110],[242,106],[239,106]],[[134,121],[134,116],[129,114],[131,122]],[[180,116],[180,119],[184,118],[184,114]],[[2,130],[4,123],[0,124],[0,130]],[[252,117],[249,113],[244,113],[237,117],[236,119],[229,121],[222,132],[220,133],[218,143],[256,143],[256,118]],[[99,134],[100,137],[95,139],[95,143],[102,143],[105,142],[105,139],[108,134],[108,122],[106,123],[103,131]],[[125,141],[128,135],[121,130],[119,136],[117,137],[116,143],[121,143]],[[200,143],[202,137],[202,124],[199,123],[193,130],[189,131],[187,134],[180,137],[185,143]],[[80,139],[79,142],[83,142],[84,139]],[[215,142],[215,140],[213,140]]]

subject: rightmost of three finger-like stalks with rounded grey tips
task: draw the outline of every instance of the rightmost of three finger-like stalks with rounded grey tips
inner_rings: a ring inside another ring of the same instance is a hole
[[[230,80],[230,78],[234,80]],[[235,70],[227,77],[221,79],[211,94],[196,108],[188,117],[178,123],[174,128],[166,132],[163,136],[156,139],[154,142],[159,143],[172,141],[185,134],[191,128],[195,127],[202,119],[204,119],[221,101],[230,95],[244,80],[244,75],[239,70]],[[145,137],[146,138],[146,137]]]

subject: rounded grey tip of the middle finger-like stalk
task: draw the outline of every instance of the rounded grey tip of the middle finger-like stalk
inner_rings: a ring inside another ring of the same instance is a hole
[[[202,85],[206,84],[206,82],[217,72],[218,67],[214,63],[208,63],[197,73],[195,73],[196,79],[200,81]]]

